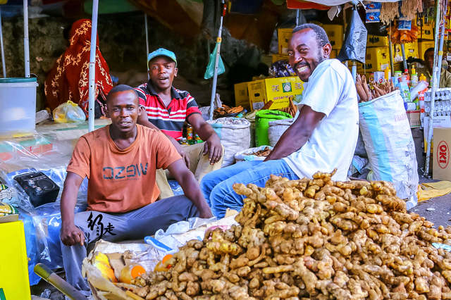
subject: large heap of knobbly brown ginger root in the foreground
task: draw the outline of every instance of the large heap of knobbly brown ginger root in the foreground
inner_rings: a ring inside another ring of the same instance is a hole
[[[271,175],[229,230],[207,231],[132,284],[145,299],[451,299],[451,227],[407,213],[389,182]]]

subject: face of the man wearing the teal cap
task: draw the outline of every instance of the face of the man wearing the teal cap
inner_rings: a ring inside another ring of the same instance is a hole
[[[149,61],[149,76],[154,88],[159,91],[172,87],[174,77],[177,76],[178,69],[175,62],[166,56],[157,56]]]

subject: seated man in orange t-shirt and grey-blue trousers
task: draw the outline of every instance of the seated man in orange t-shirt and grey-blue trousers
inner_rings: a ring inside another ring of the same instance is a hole
[[[132,87],[107,97],[111,125],[83,135],[68,165],[61,195],[61,249],[68,282],[89,294],[81,274],[87,244],[142,239],[192,217],[211,218],[194,175],[159,130],[137,125],[142,112]],[[185,195],[156,201],[156,169],[168,169]],[[78,189],[88,177],[87,211],[74,214]],[[156,202],[155,202],[156,201]]]

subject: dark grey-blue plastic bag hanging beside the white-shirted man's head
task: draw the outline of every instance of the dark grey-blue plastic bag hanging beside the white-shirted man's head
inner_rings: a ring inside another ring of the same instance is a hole
[[[346,29],[345,43],[341,47],[340,61],[359,61],[365,63],[367,31],[359,13],[353,9],[350,25]]]

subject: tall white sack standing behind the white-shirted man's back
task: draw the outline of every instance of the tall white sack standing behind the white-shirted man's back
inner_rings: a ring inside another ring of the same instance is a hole
[[[360,103],[359,122],[371,180],[393,182],[397,196],[407,199],[407,209],[416,206],[415,145],[400,91]]]

